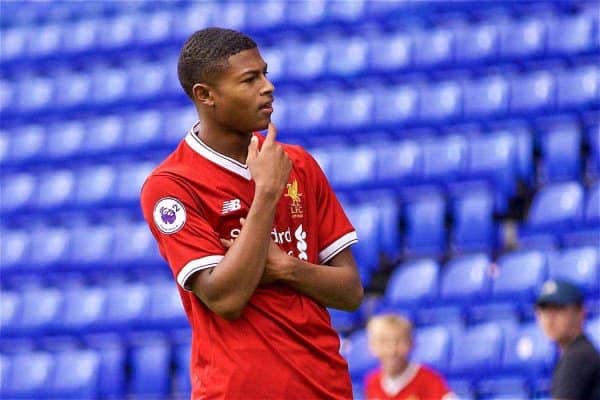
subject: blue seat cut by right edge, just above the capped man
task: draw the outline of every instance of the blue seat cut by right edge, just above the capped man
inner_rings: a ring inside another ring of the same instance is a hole
[[[593,246],[565,249],[548,258],[552,278],[565,278],[576,282],[587,291],[600,288],[600,260]]]

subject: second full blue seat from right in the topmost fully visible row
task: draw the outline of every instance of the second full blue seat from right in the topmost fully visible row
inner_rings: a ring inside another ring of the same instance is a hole
[[[524,18],[502,24],[500,53],[504,56],[523,57],[544,51],[546,26],[541,18]]]

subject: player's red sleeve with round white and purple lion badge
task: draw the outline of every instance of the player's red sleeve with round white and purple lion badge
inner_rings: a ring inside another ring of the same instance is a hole
[[[185,184],[168,175],[152,175],[142,188],[144,219],[177,283],[190,290],[189,278],[215,267],[224,256],[219,235],[202,216]]]

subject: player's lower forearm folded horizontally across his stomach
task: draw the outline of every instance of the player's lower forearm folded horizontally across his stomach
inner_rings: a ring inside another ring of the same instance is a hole
[[[360,306],[364,291],[351,265],[316,265],[295,257],[288,262],[281,281],[326,307],[354,311]]]

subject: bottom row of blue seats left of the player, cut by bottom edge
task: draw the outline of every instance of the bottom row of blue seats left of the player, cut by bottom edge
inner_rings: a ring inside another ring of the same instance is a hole
[[[88,334],[0,342],[0,397],[189,398],[190,333],[175,336]]]

